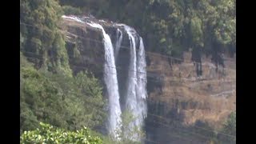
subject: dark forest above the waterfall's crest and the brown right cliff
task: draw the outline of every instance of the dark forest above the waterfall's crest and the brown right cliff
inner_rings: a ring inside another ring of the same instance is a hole
[[[147,49],[158,53],[182,57],[184,50],[192,48],[211,54],[213,61],[219,63],[222,52],[235,51],[235,0],[60,0],[60,3],[98,18],[134,26]]]

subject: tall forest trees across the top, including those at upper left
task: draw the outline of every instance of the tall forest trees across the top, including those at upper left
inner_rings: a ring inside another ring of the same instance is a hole
[[[236,51],[235,0],[21,0],[22,50],[40,54],[37,66],[70,74],[63,35],[58,30],[62,14],[93,14],[133,26],[144,39],[146,49],[174,57],[194,50],[192,60],[211,55],[223,63],[222,53]],[[61,6],[60,6],[61,5]],[[42,42],[43,41],[43,42]],[[32,50],[31,47],[34,47]]]

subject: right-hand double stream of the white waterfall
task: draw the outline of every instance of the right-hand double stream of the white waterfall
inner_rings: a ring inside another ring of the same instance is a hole
[[[134,115],[135,120],[130,123],[129,129],[142,130],[144,118],[146,118],[146,58],[145,50],[140,40],[138,54],[136,53],[135,37],[136,31],[129,26],[124,26],[130,39],[130,66],[128,76],[128,87],[126,91],[126,109]],[[126,131],[126,134],[130,132]],[[130,139],[140,141],[139,134],[133,134]]]

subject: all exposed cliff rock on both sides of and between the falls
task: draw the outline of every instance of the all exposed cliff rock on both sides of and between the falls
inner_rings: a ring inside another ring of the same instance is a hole
[[[63,18],[60,25],[66,35],[66,47],[70,58],[70,68],[77,73],[90,70],[97,78],[103,78],[104,49],[102,32],[79,22]],[[111,22],[102,26],[111,39],[116,38],[116,30]],[[124,34],[127,39],[127,35]],[[115,42],[113,42],[115,43]],[[122,46],[130,47],[129,42]],[[121,49],[118,72],[126,74],[129,50]],[[192,130],[200,122],[218,129],[231,111],[235,110],[236,81],[235,58],[226,58],[224,70],[215,70],[210,58],[202,59],[202,76],[198,77],[195,65],[190,61],[191,53],[184,53],[184,62],[170,65],[168,58],[157,54],[147,54],[148,116],[146,137],[159,143],[191,143],[175,135]],[[118,77],[122,78],[122,75]],[[104,82],[102,82],[104,83]],[[120,90],[122,85],[120,84]],[[166,123],[167,127],[158,123]],[[177,124],[178,123],[178,124]],[[192,126],[192,128],[191,128]],[[194,130],[194,129],[193,129]],[[165,134],[171,133],[169,136]],[[193,134],[192,134],[193,135]],[[194,135],[193,135],[194,136]],[[206,143],[203,138],[188,136],[194,143]],[[194,138],[194,139],[193,139]],[[193,142],[192,142],[193,143]]]

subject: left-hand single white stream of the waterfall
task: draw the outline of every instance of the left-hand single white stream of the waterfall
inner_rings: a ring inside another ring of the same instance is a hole
[[[118,134],[121,131],[122,119],[121,119],[121,108],[119,103],[119,93],[118,93],[118,78],[117,70],[115,68],[114,62],[114,49],[111,43],[110,36],[106,34],[105,30],[98,23],[88,23],[88,25],[99,28],[102,30],[104,38],[104,48],[105,48],[105,82],[107,94],[109,97],[109,121],[108,121],[108,130],[109,133],[118,138]]]

